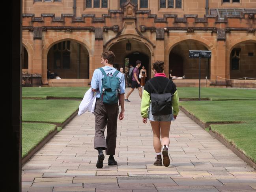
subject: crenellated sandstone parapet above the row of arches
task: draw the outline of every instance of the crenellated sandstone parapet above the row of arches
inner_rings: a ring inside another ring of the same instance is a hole
[[[95,32],[95,39],[103,39],[103,32],[113,31],[120,35],[126,22],[135,22],[135,29],[140,36],[145,32],[156,34],[157,40],[163,40],[164,34],[172,31],[184,31],[187,33],[211,32],[217,33],[217,40],[225,40],[230,32],[256,32],[256,10],[246,10],[240,15],[183,15],[179,18],[175,14],[164,14],[159,18],[151,14],[150,10],[138,10],[130,1],[121,7],[121,10],[109,10],[102,17],[95,14],[82,14],[75,17],[73,14],[62,14],[55,17],[54,14],[23,14],[23,30],[34,32],[34,38],[40,39],[41,32],[47,30],[61,30],[64,32],[89,31]],[[115,25],[113,25],[115,24]],[[95,30],[96,29],[96,30]]]

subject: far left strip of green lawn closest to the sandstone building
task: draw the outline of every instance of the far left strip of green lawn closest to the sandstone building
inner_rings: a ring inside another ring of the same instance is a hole
[[[84,93],[89,87],[30,87],[22,88],[22,97],[37,97],[46,99],[46,97],[68,97],[73,99],[82,99]]]

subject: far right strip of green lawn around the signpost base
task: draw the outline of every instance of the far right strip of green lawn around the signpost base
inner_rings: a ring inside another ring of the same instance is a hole
[[[180,99],[198,98],[199,88],[177,88]],[[230,89],[230,88],[201,88],[201,99],[211,100],[234,100],[254,99],[256,100],[256,89]]]

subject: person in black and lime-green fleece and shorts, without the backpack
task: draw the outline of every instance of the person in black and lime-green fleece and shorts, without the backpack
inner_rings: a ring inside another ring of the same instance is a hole
[[[163,164],[164,166],[168,167],[170,165],[170,158],[168,155],[168,147],[170,144],[169,132],[171,121],[174,121],[179,113],[179,96],[174,82],[172,82],[172,80],[169,80],[163,73],[164,62],[155,62],[153,64],[153,71],[155,73],[155,77],[147,81],[144,87],[140,113],[143,118],[143,123],[147,123],[147,119],[149,119],[153,130],[153,146],[156,153],[156,161],[154,162],[154,165],[162,166],[161,150],[163,149]],[[170,114],[152,114],[151,94],[154,93],[159,93],[159,95],[163,93],[171,93],[173,109],[169,109]]]

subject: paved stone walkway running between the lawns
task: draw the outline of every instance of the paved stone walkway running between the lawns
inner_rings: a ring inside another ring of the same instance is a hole
[[[126,90],[127,91],[127,90]],[[256,171],[182,112],[170,129],[168,168],[153,166],[150,123],[138,91],[118,121],[117,166],[96,168],[94,115],[75,117],[22,167],[24,192],[256,191]]]

